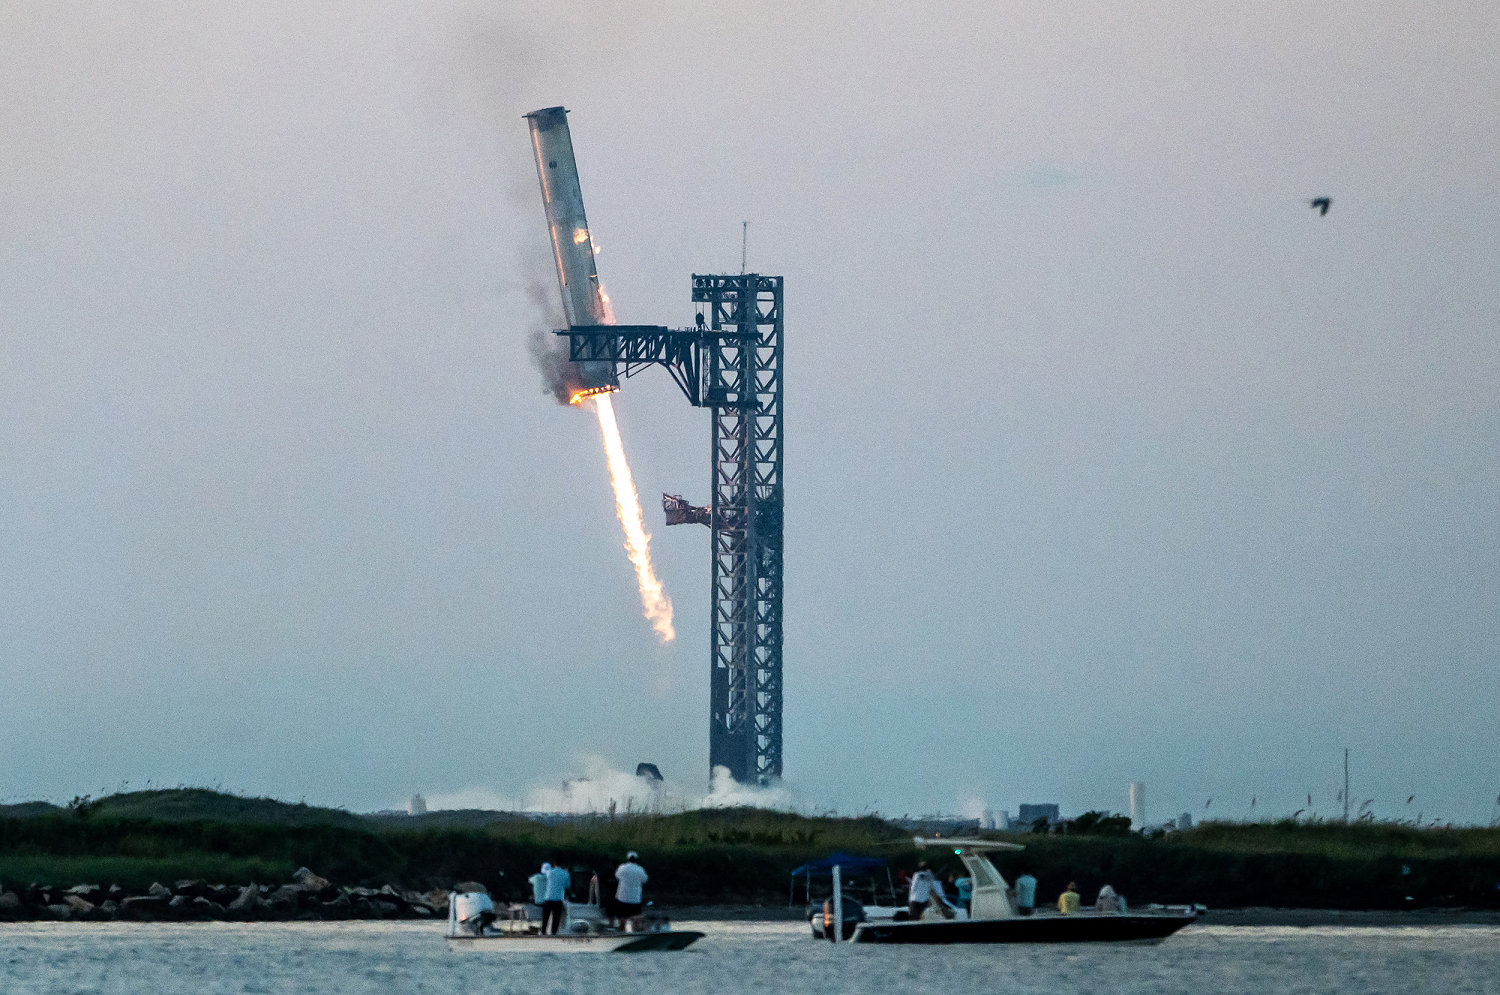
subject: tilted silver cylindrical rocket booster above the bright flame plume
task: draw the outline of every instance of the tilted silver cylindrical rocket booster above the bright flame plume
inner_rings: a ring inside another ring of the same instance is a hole
[[[584,216],[584,191],[578,183],[567,110],[548,107],[531,111],[526,123],[531,128],[531,149],[537,155],[537,179],[542,180],[542,203],[548,213],[548,231],[552,234],[552,258],[558,269],[567,323],[614,324],[615,314],[594,266],[594,239]],[[620,389],[614,363],[588,360],[574,366],[579,389],[585,393]]]

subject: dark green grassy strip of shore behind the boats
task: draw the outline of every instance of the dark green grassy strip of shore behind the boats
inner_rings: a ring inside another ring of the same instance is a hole
[[[1114,819],[1080,816],[1066,834],[1010,837],[1026,851],[996,854],[996,864],[1008,876],[1029,866],[1042,899],[1074,879],[1086,894],[1113,884],[1136,903],[1500,905],[1500,828],[1282,821],[1209,822],[1158,837],[1119,830]],[[360,816],[178,789],[0,810],[6,885],[278,882],[308,866],[348,885],[424,890],[478,879],[519,896],[543,860],[608,873],[627,849],[640,851],[651,870],[652,897],[674,905],[784,902],[790,869],[836,849],[885,857],[894,870],[927,858],[940,875],[962,873],[951,852],[920,854],[906,833],[879,818],[759,809],[543,824],[494,812]],[[586,878],[576,884],[585,887]]]

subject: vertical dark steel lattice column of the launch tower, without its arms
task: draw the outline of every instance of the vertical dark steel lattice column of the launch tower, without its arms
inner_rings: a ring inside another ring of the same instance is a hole
[[[782,278],[694,275],[693,302],[712,344],[708,764],[766,783],[782,776]]]

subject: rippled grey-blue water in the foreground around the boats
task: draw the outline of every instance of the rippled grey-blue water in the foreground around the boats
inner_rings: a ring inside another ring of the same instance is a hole
[[[0,926],[0,992],[1500,992],[1500,927],[1190,926],[1158,947],[872,947],[680,923],[658,954],[454,953],[432,923]]]

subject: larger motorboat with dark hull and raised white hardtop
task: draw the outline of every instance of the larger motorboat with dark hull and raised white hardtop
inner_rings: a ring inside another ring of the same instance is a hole
[[[988,854],[998,849],[1024,849],[1018,843],[984,839],[922,839],[918,846],[951,846],[974,881],[969,909],[939,909],[928,905],[921,918],[904,921],[850,921],[834,891],[824,935],[852,942],[1161,942],[1188,923],[1197,920],[1198,906],[1167,906],[1134,912],[1083,909],[1072,914],[1038,909],[1022,915],[1011,903],[1011,888]],[[837,878],[836,878],[837,882]],[[844,929],[826,929],[843,921]],[[814,921],[814,930],[819,923]]]

